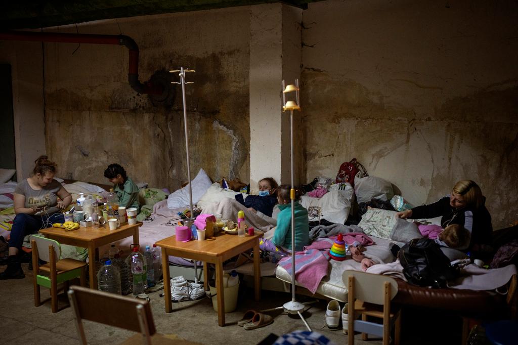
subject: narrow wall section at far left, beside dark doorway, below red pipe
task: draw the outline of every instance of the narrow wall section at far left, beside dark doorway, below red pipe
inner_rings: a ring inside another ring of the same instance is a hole
[[[16,178],[21,181],[46,153],[41,43],[0,41],[0,52],[0,63],[11,65]]]

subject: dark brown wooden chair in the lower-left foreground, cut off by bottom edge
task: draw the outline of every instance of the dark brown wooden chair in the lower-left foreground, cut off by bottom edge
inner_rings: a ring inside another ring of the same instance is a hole
[[[82,344],[87,344],[82,320],[139,332],[123,344],[196,344],[156,333],[151,307],[147,300],[135,299],[103,291],[71,286],[68,299],[74,310],[77,333]]]

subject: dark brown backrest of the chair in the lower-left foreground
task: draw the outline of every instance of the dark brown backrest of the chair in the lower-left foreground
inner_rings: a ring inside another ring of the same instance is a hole
[[[85,319],[150,336],[156,333],[151,307],[146,300],[76,285],[70,287],[68,298],[79,323]]]

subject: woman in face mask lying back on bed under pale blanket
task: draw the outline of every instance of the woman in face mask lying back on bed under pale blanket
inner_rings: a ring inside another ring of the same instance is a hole
[[[236,195],[236,199],[225,197],[205,207],[203,212],[219,213],[223,218],[237,221],[237,212],[244,211],[244,218],[249,226],[267,232],[276,225],[272,213],[277,204],[277,187],[278,184],[274,178],[265,177],[258,182],[259,195],[248,195],[244,200],[242,194]],[[238,200],[239,197],[241,197],[240,200]]]

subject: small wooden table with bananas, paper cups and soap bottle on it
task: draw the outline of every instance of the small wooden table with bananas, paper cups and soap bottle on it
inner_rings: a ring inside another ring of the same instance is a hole
[[[57,227],[48,227],[39,232],[44,234],[45,237],[56,240],[64,245],[88,248],[90,288],[97,289],[95,262],[97,261],[96,257],[98,255],[96,254],[98,254],[98,248],[130,236],[133,236],[133,243],[138,245],[138,227],[141,225],[141,222],[137,222],[137,224],[125,224],[116,230],[110,230],[108,224],[105,224],[104,227],[98,229],[87,226],[72,231],[65,231]]]

